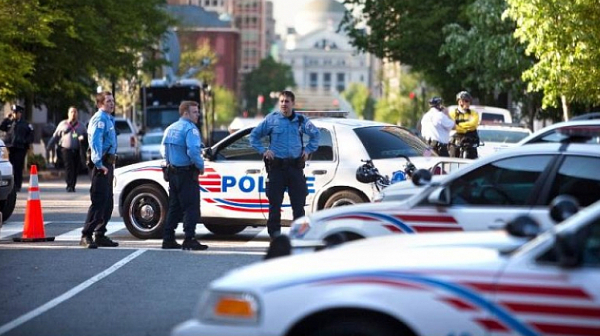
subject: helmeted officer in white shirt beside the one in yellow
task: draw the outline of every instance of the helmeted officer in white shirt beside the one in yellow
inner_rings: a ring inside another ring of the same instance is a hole
[[[429,100],[431,107],[421,119],[421,136],[425,139],[431,149],[439,156],[449,156],[448,141],[450,131],[454,128],[454,120],[448,115],[448,110],[440,97]]]

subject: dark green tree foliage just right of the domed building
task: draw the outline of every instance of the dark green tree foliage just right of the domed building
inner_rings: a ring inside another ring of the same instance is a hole
[[[448,56],[439,50],[447,23],[468,26],[463,7],[473,0],[345,0],[340,28],[351,44],[379,58],[409,65],[449,96],[460,90],[462,74],[449,76]],[[366,26],[366,28],[365,28]]]

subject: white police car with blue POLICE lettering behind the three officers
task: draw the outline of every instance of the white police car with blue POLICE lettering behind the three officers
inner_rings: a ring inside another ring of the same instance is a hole
[[[370,201],[373,184],[360,183],[356,170],[371,159],[382,174],[401,169],[408,156],[417,168],[429,169],[452,159],[427,156],[427,145],[395,125],[343,118],[313,118],[321,132],[318,150],[306,164],[306,212]],[[266,225],[268,200],[262,157],[249,142],[247,127],[204,151],[205,170],[199,177],[202,223],[216,234],[235,234],[247,225]],[[265,138],[266,142],[267,139]],[[306,143],[306,140],[305,140]],[[168,184],[160,161],[142,162],[115,171],[114,204],[136,237],[158,238],[167,214]],[[284,199],[284,224],[292,219]]]

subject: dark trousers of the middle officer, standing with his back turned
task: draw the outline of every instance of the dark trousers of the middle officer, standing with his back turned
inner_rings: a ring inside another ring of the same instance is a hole
[[[163,240],[175,240],[177,224],[183,220],[185,238],[194,238],[196,224],[200,221],[200,189],[198,169],[169,166],[169,212]]]

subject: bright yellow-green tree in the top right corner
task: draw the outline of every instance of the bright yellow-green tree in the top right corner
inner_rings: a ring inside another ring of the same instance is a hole
[[[544,106],[562,101],[600,104],[600,6],[597,0],[507,0],[515,36],[537,58],[523,73],[528,90],[543,92]]]

